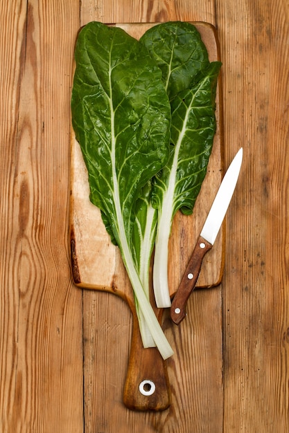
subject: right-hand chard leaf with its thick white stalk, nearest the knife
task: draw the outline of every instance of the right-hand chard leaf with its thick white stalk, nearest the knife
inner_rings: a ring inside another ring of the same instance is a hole
[[[155,178],[153,203],[158,208],[153,282],[157,306],[170,306],[168,241],[177,210],[190,214],[200,192],[213,137],[216,82],[220,63],[210,64],[202,79],[172,101],[172,149],[166,167]]]

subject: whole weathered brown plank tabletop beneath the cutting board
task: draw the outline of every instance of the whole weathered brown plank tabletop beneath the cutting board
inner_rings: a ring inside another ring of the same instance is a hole
[[[0,6],[0,432],[289,430],[288,0],[8,0]],[[243,169],[225,270],[164,322],[172,404],[122,403],[132,318],[76,288],[69,251],[73,48],[88,21],[207,21],[222,57],[224,165]]]

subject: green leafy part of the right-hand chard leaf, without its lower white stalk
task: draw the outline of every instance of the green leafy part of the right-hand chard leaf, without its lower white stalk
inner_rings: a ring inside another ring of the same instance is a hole
[[[170,158],[155,177],[152,201],[161,212],[177,210],[191,214],[204,176],[216,132],[215,97],[220,63],[202,71],[192,89],[180,92],[172,101]],[[166,211],[161,209],[170,200]],[[166,213],[168,216],[168,213]]]

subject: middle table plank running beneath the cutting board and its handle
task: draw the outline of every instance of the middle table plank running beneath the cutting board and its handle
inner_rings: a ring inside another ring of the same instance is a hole
[[[157,15],[156,10],[164,15]],[[120,19],[124,15],[125,19]],[[166,19],[195,21],[196,18],[215,24],[214,3],[202,2],[192,10],[182,1],[124,1],[118,5],[82,2],[82,24],[93,19],[129,23]],[[110,294],[84,291],[86,432],[96,429],[114,432],[116,428],[119,432],[139,432],[140,428],[146,432],[222,432],[220,288],[195,292],[188,308],[191,318],[182,332],[177,327],[171,329],[167,319],[164,321],[168,338],[178,348],[177,356],[168,364],[173,394],[170,409],[158,414],[135,412],[123,406],[120,391],[130,351],[130,311],[122,300]]]

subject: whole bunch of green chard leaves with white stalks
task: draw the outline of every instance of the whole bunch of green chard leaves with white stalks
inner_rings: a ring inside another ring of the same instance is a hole
[[[120,248],[143,345],[166,359],[173,351],[150,305],[150,259],[155,246],[156,300],[168,306],[170,226],[178,209],[192,212],[207,170],[220,64],[209,63],[198,31],[181,22],[155,26],[140,41],[91,22],[75,57],[72,122],[90,200]]]

